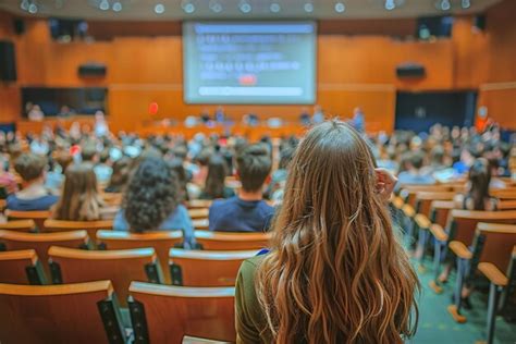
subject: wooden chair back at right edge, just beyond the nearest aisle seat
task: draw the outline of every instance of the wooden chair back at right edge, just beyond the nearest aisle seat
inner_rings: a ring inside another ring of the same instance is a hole
[[[516,223],[516,210],[507,211],[480,211],[454,209],[450,213],[450,241],[457,241],[467,247],[472,244],[475,230],[479,222]]]

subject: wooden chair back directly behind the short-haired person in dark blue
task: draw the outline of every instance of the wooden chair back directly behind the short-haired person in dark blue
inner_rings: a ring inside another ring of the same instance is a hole
[[[202,249],[245,250],[269,246],[271,233],[195,231],[195,238]]]

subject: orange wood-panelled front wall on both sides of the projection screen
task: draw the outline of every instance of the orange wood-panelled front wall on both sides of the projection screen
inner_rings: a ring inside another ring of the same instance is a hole
[[[516,2],[516,1],[515,1]],[[514,4],[514,2],[513,2]],[[511,17],[502,17],[504,8],[511,4],[505,0],[502,10],[493,9],[505,24]],[[496,11],[495,11],[496,10]],[[491,12],[489,15],[491,15]],[[500,14],[502,12],[502,14]],[[514,12],[513,12],[514,13]],[[5,14],[1,14],[5,17]],[[509,15],[509,14],[507,14]],[[0,17],[1,19],[1,17]],[[2,21],[0,23],[10,22]],[[131,26],[127,23],[91,23],[95,32],[103,32],[105,37],[116,37],[110,41],[72,42],[67,45],[51,41],[45,21],[26,20],[26,33],[15,36],[17,49],[17,86],[81,86],[106,85],[109,87],[109,114],[114,128],[134,130],[140,123],[160,118],[183,119],[202,109],[213,110],[214,106],[187,106],[182,93],[182,40],[181,27],[175,24],[150,24]],[[382,29],[386,34],[402,35],[414,32],[415,22],[376,21],[376,25],[359,22],[322,22],[318,36],[318,93],[317,101],[327,113],[351,115],[356,106],[366,113],[371,128],[391,131],[394,126],[395,91],[402,90],[452,90],[476,89],[481,86],[480,101],[490,108],[490,114],[505,125],[516,127],[514,121],[495,116],[499,99],[507,90],[487,90],[500,82],[514,82],[515,46],[514,30],[504,33],[504,23],[491,23],[488,17],[488,32],[472,32],[471,17],[456,19],[453,38],[431,42],[400,41],[388,36],[374,36]],[[396,25],[391,25],[397,23]],[[512,24],[514,28],[514,23]],[[2,33],[0,37],[12,33]],[[108,32],[111,27],[111,34]],[[146,37],[136,37],[136,27],[142,27]],[[156,29],[160,30],[156,32]],[[3,32],[9,30],[4,28]],[[369,36],[347,36],[353,30],[366,30]],[[369,32],[367,32],[369,30]],[[392,33],[390,32],[392,30]],[[152,33],[167,36],[152,36]],[[494,50],[496,49],[496,50]],[[494,58],[492,58],[494,56]],[[108,65],[108,76],[103,81],[85,81],[77,76],[77,66],[85,62],[102,62]],[[395,66],[403,62],[420,62],[427,69],[427,76],[415,82],[400,81]],[[496,65],[512,69],[501,73]],[[514,74],[513,74],[514,73]],[[512,94],[514,88],[508,93]],[[516,97],[512,97],[516,99]],[[12,121],[20,112],[19,90],[0,89],[0,107],[4,118]],[[151,118],[147,113],[151,101],[159,103],[159,113]],[[513,103],[511,103],[513,101]],[[503,102],[513,107],[514,100]],[[262,115],[278,115],[296,120],[303,107],[297,106],[226,106],[226,112],[238,118],[247,111]],[[513,111],[514,113],[514,111]]]

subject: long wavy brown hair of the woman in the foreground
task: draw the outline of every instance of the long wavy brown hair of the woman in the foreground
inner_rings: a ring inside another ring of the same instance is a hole
[[[262,334],[275,343],[403,343],[419,281],[348,124],[314,127],[290,164],[271,251],[256,275]]]

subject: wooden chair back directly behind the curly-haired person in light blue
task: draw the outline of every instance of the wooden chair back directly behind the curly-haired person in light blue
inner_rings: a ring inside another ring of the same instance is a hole
[[[130,233],[121,231],[98,231],[97,243],[106,249],[153,247],[163,272],[164,283],[170,284],[169,250],[183,242],[181,231]]]

